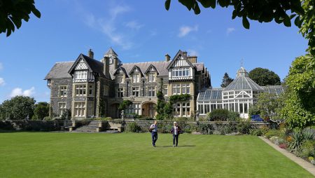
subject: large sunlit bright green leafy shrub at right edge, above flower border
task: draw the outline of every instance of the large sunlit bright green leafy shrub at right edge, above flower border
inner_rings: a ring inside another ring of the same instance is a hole
[[[315,124],[315,58],[297,57],[286,78],[287,98],[282,114],[290,128],[306,128]]]

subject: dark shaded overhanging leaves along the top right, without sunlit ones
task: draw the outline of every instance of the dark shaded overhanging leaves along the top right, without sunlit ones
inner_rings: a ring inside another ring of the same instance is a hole
[[[260,1],[243,1],[243,0],[179,0],[181,4],[186,6],[188,10],[193,10],[194,13],[200,14],[200,4],[204,8],[216,8],[216,5],[223,8],[232,6],[232,19],[236,17],[242,18],[243,26],[249,29],[248,19],[257,20],[258,22],[275,22],[286,27],[291,26],[291,19],[296,15],[304,14],[300,0],[260,0]],[[165,1],[165,8],[169,10],[171,0]]]

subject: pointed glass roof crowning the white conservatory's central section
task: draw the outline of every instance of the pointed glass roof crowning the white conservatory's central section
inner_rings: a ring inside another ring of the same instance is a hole
[[[244,67],[241,67],[237,71],[237,78],[228,85],[224,91],[228,90],[264,90],[260,85],[255,83],[251,78],[248,77],[248,73]]]

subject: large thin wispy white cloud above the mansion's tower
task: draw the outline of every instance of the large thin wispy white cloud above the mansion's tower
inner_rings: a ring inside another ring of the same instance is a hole
[[[130,49],[133,46],[132,41],[128,39],[127,35],[118,32],[117,29],[117,18],[118,15],[127,13],[131,10],[129,6],[126,5],[117,5],[111,8],[109,11],[109,16],[105,18],[95,17],[92,13],[84,12],[83,21],[89,27],[94,29],[100,29],[103,34],[105,34],[112,43],[121,46],[123,49]],[[130,27],[135,24],[130,24]]]

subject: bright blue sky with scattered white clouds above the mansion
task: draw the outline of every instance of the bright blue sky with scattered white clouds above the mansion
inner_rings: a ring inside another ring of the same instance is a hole
[[[241,59],[248,71],[271,69],[282,80],[307,48],[297,27],[251,21],[248,30],[241,19],[232,20],[231,8],[202,8],[195,15],[175,0],[166,11],[164,2],[36,1],[40,19],[31,15],[8,38],[0,34],[0,102],[14,95],[48,102],[43,78],[52,65],[76,60],[89,48],[101,59],[112,47],[123,62],[164,60],[166,53],[187,50],[209,69],[213,87],[225,72],[235,78]]]

